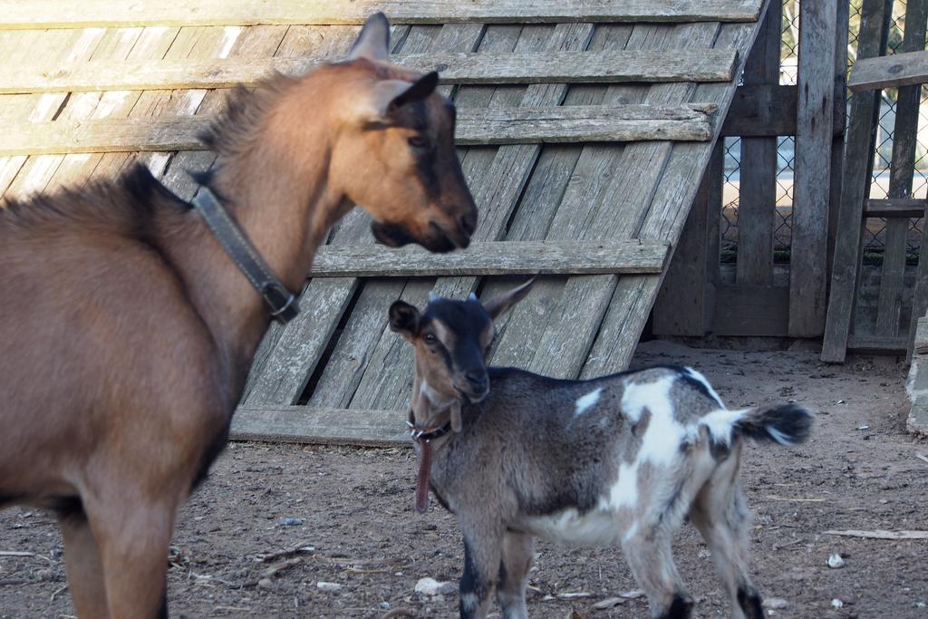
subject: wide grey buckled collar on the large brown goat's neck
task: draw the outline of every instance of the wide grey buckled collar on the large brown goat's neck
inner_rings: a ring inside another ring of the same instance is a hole
[[[281,323],[290,322],[300,313],[296,295],[271,272],[264,258],[258,253],[244,230],[238,227],[232,216],[208,187],[200,187],[200,194],[193,199],[193,207],[200,212],[213,236],[226,250],[229,258],[238,266],[245,277],[258,291],[270,308],[271,316]]]

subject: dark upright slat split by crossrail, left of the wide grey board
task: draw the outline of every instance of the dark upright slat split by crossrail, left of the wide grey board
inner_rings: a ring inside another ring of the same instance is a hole
[[[780,83],[780,19],[771,2],[744,66],[744,85]],[[741,137],[737,283],[773,283],[773,228],[777,208],[777,137]]]

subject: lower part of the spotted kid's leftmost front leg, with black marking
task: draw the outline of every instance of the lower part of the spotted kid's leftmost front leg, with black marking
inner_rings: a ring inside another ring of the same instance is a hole
[[[503,543],[502,532],[491,533],[485,527],[464,530],[464,575],[460,581],[461,619],[483,619],[489,611]]]

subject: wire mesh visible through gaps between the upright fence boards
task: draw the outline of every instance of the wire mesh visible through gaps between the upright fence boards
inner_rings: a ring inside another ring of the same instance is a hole
[[[780,84],[796,84],[799,51],[799,5],[803,0],[783,0],[780,43]],[[815,0],[805,0],[814,2]],[[847,0],[845,0],[847,1]],[[848,71],[857,58],[857,32],[860,28],[862,0],[850,1],[850,19],[847,45]],[[895,54],[902,45],[905,33],[906,0],[893,3],[887,54]],[[848,102],[850,93],[848,93]],[[876,137],[876,154],[873,176],[870,179],[870,198],[883,199],[889,189],[889,166],[893,151],[893,128],[896,123],[896,89],[882,92],[880,125]],[[919,131],[915,153],[912,197],[925,198],[928,192],[928,88],[922,88],[922,105],[919,109]],[[774,218],[774,262],[789,263],[790,241],[793,231],[793,136],[780,136],[777,143],[777,194]],[[734,262],[738,254],[738,204],[740,193],[741,139],[725,138],[725,183],[723,186],[721,247],[722,262]],[[868,220],[864,237],[864,259],[868,263],[883,260],[885,220]],[[909,221],[908,260],[918,261],[922,239],[922,219]]]

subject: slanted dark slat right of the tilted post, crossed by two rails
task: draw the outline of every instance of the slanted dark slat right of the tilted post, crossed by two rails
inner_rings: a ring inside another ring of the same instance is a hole
[[[909,0],[906,4],[906,32],[902,50],[924,49],[928,26],[928,0]],[[889,198],[909,198],[915,173],[915,149],[919,133],[919,105],[922,86],[899,88],[896,99],[896,125],[893,129],[893,155],[889,173]],[[893,218],[886,222],[880,297],[877,303],[876,333],[896,335],[902,309],[903,277],[908,251],[909,220]],[[914,320],[912,321],[914,328]],[[908,330],[906,329],[907,335]]]

